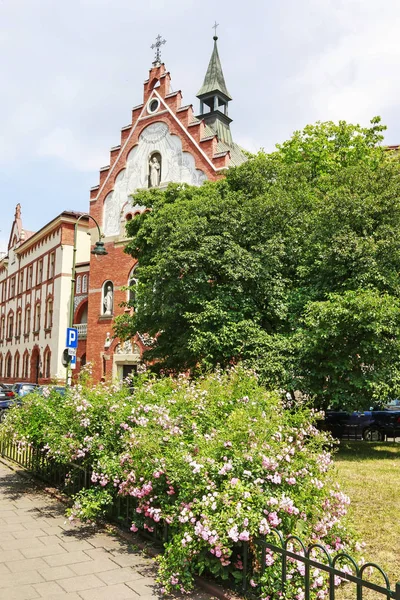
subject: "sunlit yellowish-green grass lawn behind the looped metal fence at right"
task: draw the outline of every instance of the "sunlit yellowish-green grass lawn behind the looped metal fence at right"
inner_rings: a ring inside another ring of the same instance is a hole
[[[342,442],[335,464],[351,499],[351,522],[366,543],[364,557],[380,565],[393,585],[400,581],[400,444]],[[355,598],[354,592],[339,597]],[[378,598],[369,594],[365,597]]]

